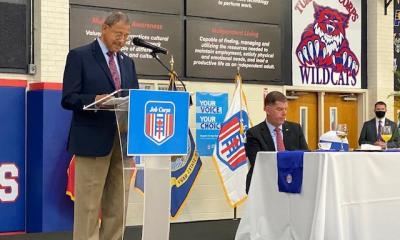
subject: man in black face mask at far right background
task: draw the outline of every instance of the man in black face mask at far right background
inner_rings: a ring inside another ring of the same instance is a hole
[[[373,144],[380,146],[382,149],[398,148],[400,146],[399,134],[396,123],[387,119],[386,103],[379,101],[375,103],[375,118],[364,123],[361,130],[358,144]],[[392,138],[385,143],[381,137],[381,130],[383,126],[390,126],[392,129]]]

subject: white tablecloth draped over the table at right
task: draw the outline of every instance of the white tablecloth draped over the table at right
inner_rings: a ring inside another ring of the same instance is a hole
[[[276,162],[258,153],[236,240],[400,240],[399,152],[305,153],[301,194]]]

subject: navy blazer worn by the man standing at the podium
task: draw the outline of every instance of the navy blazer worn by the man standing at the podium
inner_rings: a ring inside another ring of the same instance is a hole
[[[117,54],[121,72],[121,88],[139,88],[135,64],[123,53]],[[64,71],[61,104],[73,111],[67,149],[80,156],[105,156],[113,146],[116,133],[114,112],[83,111],[96,95],[115,91],[111,72],[100,45],[91,44],[72,49]]]

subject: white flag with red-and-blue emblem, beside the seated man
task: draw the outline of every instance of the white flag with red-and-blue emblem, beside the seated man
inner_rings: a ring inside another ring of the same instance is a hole
[[[225,197],[232,207],[237,207],[247,198],[247,157],[244,148],[245,132],[249,128],[246,97],[242,90],[242,78],[236,75],[236,88],[231,105],[214,148],[213,161],[223,185]]]

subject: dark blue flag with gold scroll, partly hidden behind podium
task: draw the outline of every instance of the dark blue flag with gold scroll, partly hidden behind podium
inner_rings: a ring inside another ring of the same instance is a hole
[[[174,72],[174,74],[176,74]],[[170,74],[168,90],[176,91],[174,74]],[[190,105],[190,103],[188,103]],[[202,167],[192,133],[188,133],[188,154],[171,159],[171,218],[176,219],[182,212],[187,198]]]

